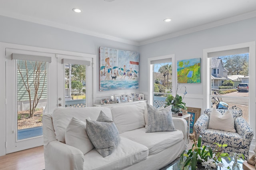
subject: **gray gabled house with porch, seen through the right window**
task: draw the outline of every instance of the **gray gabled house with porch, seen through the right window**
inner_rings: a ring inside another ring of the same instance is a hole
[[[224,80],[228,80],[228,70],[224,68],[221,58],[211,58],[212,89],[219,89]]]

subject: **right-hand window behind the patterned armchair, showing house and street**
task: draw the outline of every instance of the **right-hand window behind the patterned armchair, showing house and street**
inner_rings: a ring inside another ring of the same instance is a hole
[[[210,67],[216,68],[212,69],[212,73],[209,73],[208,77],[211,77],[211,107],[217,109],[239,107],[243,112],[243,117],[249,122],[248,90],[247,88],[244,91],[238,90],[240,83],[250,81],[248,52],[248,48],[243,48],[240,51],[208,53]]]

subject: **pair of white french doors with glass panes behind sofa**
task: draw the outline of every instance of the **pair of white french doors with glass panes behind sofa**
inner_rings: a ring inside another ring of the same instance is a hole
[[[6,48],[6,154],[43,145],[42,114],[92,106],[94,55],[39,51]],[[83,78],[73,80],[72,74]]]

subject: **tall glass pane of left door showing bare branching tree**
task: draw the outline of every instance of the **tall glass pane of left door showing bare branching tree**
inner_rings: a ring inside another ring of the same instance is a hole
[[[48,62],[16,60],[17,140],[42,135],[47,106]]]

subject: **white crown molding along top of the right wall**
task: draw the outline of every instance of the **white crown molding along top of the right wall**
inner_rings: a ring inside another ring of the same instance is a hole
[[[204,25],[201,25],[201,26],[189,28],[189,29],[182,30],[182,31],[179,31],[179,32],[174,32],[172,34],[167,34],[165,36],[160,36],[160,37],[152,38],[152,39],[149,39],[149,40],[141,41],[139,43],[139,45],[146,45],[148,43],[159,42],[159,41],[166,40],[166,39],[169,39],[169,38],[174,38],[174,37],[182,36],[182,35],[185,35],[185,34],[190,34],[190,33],[193,33],[193,32],[198,32],[198,31],[209,29],[209,28],[214,28],[214,27],[217,27],[217,26],[222,26],[222,25],[225,25],[225,24],[230,24],[232,22],[246,20],[246,19],[254,18],[254,17],[256,17],[256,10],[252,11],[252,12],[245,13],[245,14],[241,14],[241,15],[238,15],[238,16],[226,18],[226,19],[223,19],[223,20],[218,20],[216,22],[210,22],[208,24],[204,24]]]

